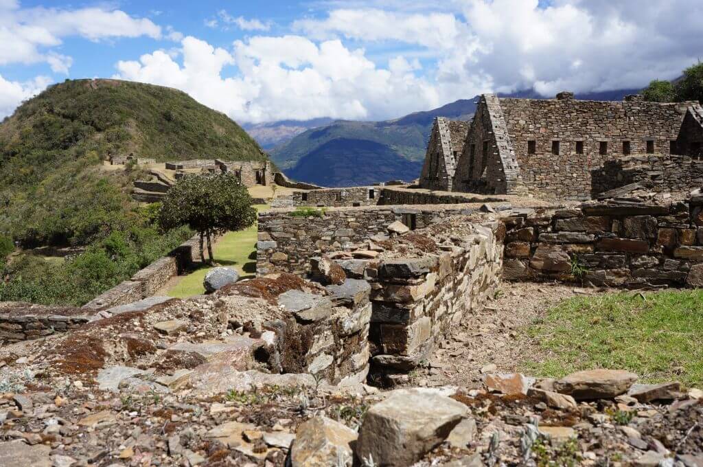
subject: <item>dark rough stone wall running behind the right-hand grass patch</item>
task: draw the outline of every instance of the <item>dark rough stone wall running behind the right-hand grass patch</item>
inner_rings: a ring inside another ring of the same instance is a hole
[[[504,219],[503,278],[596,286],[703,286],[703,198],[670,205],[610,200]]]

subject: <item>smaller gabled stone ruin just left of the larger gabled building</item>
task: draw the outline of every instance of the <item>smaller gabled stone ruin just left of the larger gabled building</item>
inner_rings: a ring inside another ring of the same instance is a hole
[[[431,190],[452,191],[456,160],[464,150],[469,122],[434,119],[420,184]]]

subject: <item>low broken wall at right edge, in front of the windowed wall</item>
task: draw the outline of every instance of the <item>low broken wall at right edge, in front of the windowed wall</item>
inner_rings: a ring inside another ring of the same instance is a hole
[[[591,177],[593,198],[631,184],[654,193],[671,193],[674,198],[688,198],[692,188],[703,187],[703,161],[684,155],[633,155],[605,162],[593,170]]]

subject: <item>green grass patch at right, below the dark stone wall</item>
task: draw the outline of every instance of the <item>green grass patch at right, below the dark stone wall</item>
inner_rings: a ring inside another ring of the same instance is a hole
[[[528,333],[546,354],[527,360],[528,373],[610,368],[633,371],[643,383],[703,383],[703,290],[573,298]]]

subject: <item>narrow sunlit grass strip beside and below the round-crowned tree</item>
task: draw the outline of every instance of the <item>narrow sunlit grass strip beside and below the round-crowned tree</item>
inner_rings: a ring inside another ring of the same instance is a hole
[[[257,210],[266,210],[268,205],[255,205]],[[240,276],[256,274],[257,225],[238,232],[227,232],[213,245],[214,261],[221,266],[232,267]],[[254,256],[252,257],[252,253]],[[186,298],[205,293],[202,280],[211,267],[201,267],[191,272],[167,292],[169,297]]]

